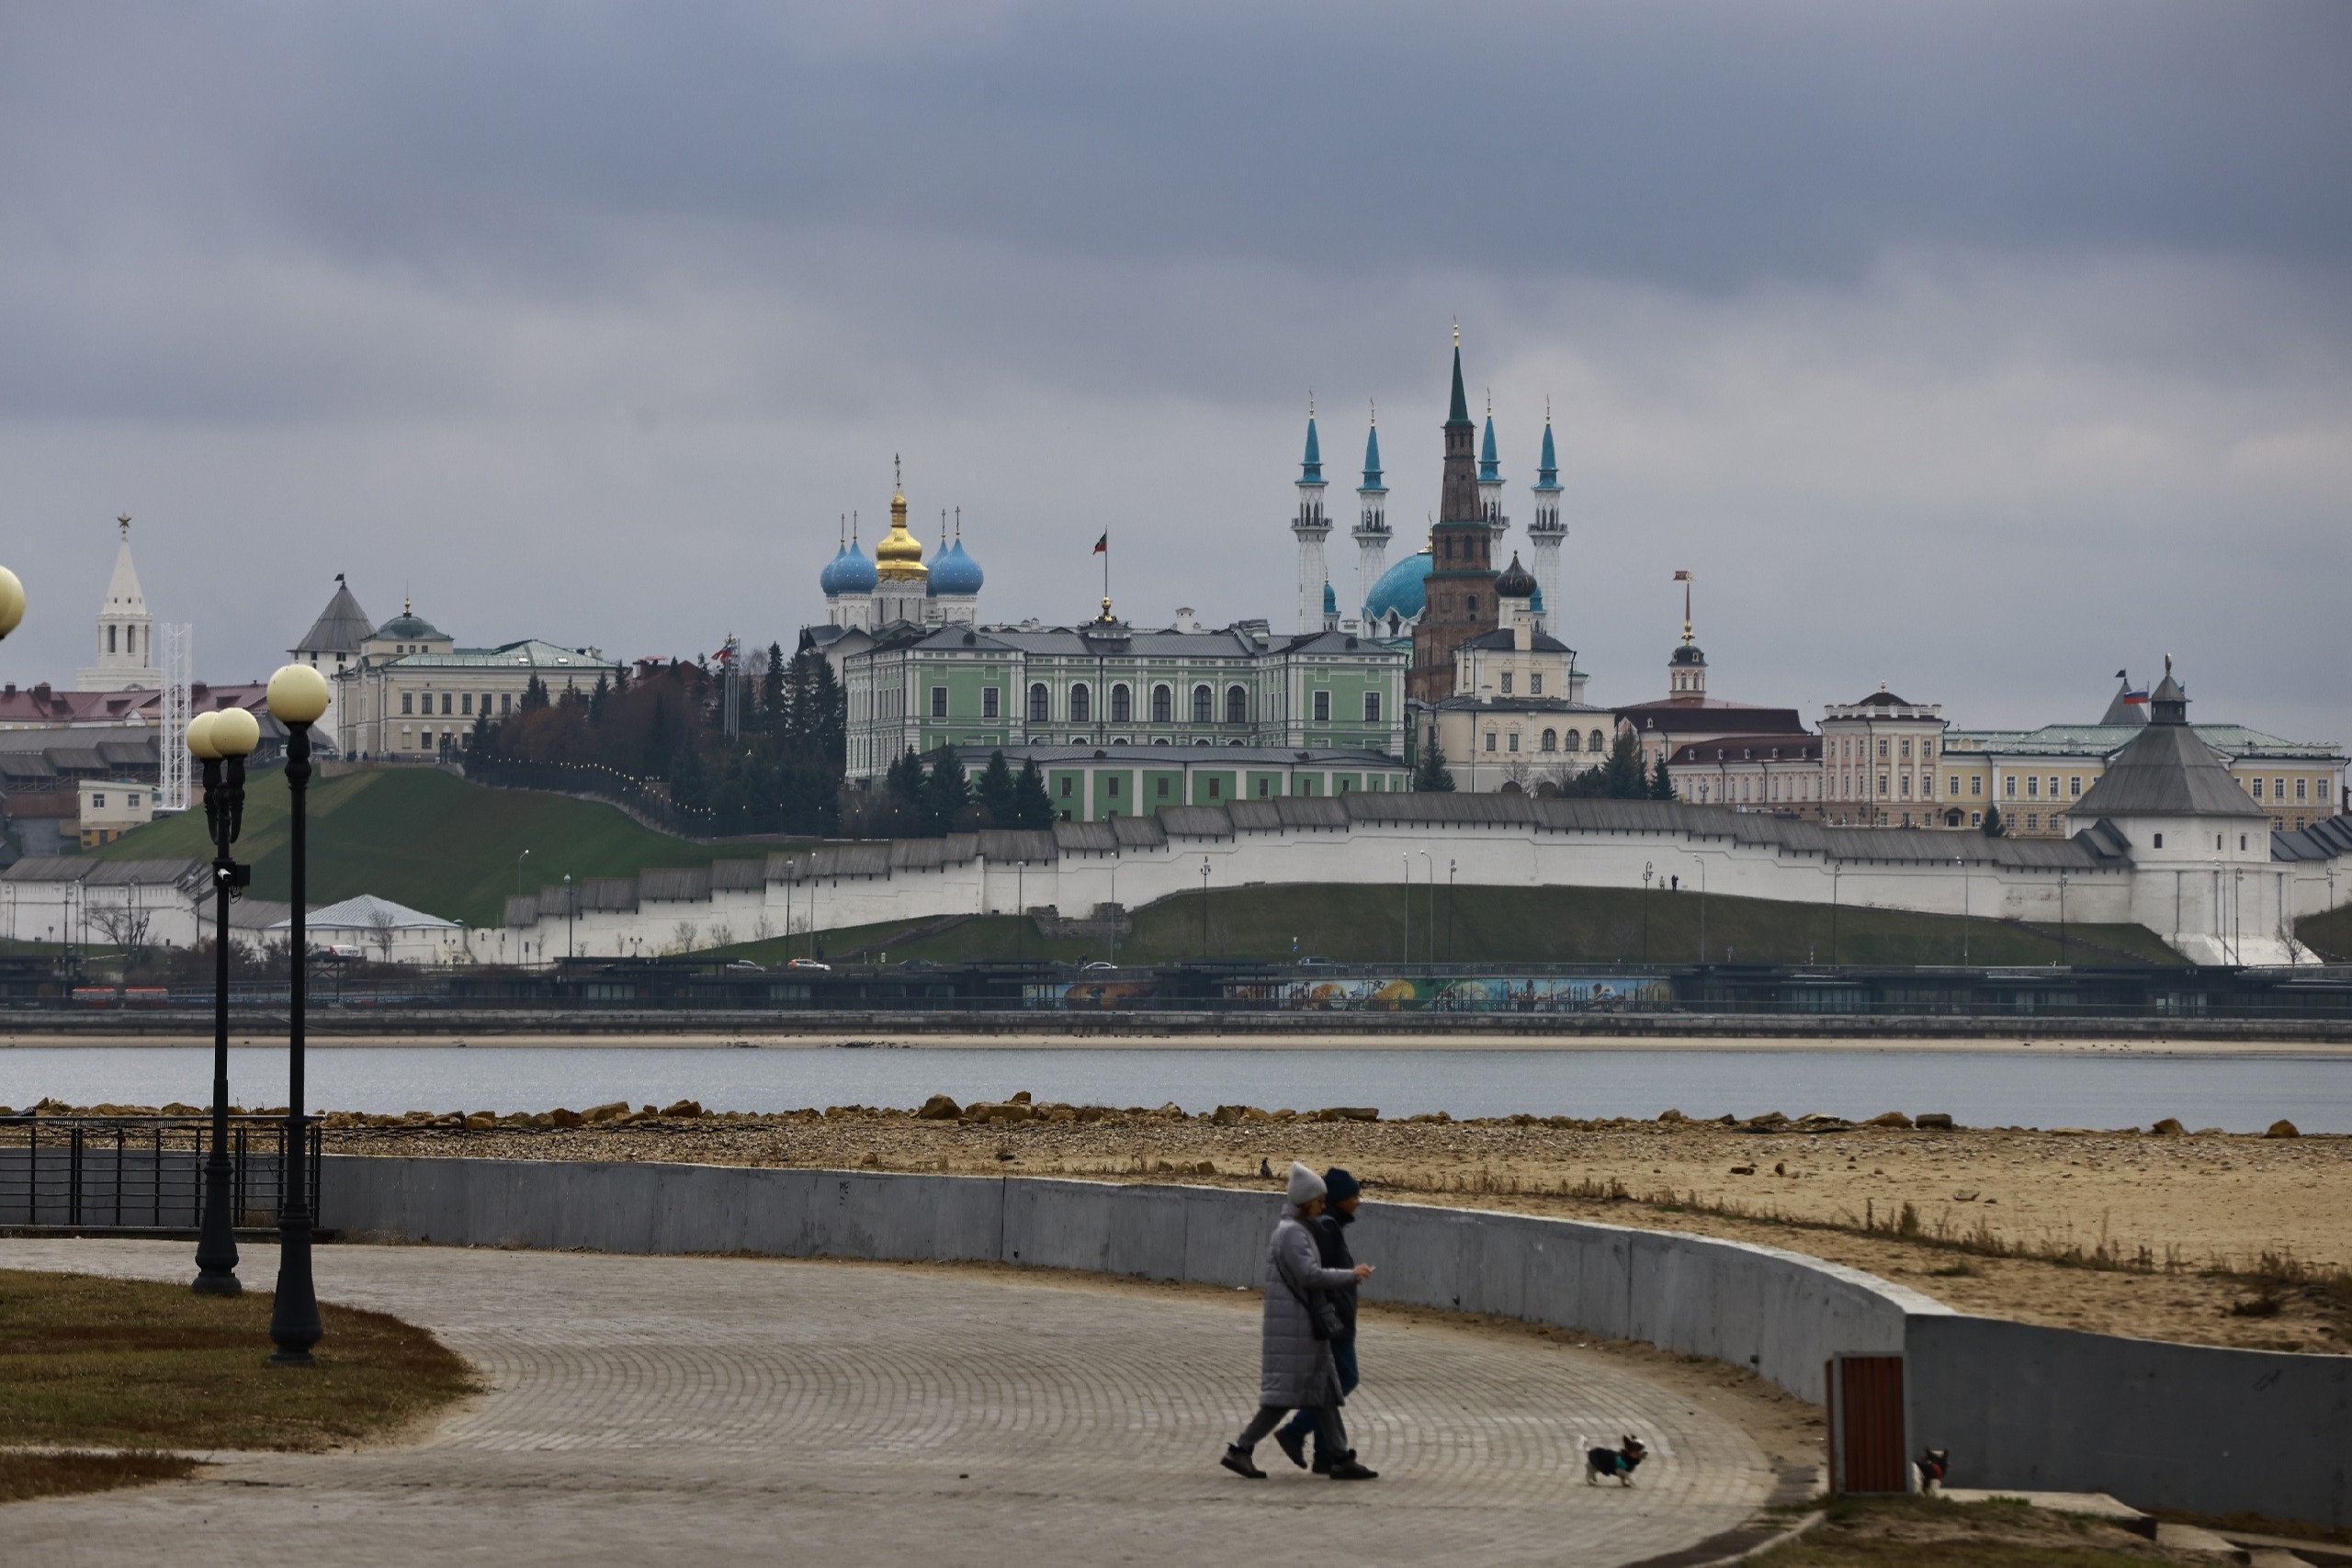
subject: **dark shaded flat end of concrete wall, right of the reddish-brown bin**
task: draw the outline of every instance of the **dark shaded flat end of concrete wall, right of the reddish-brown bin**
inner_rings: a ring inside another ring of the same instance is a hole
[[[2352,1356],[1915,1316],[1905,1359],[1912,1439],[1966,1486],[2352,1523]]]

